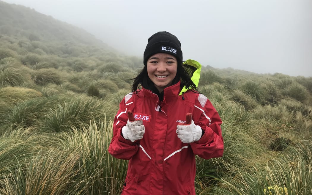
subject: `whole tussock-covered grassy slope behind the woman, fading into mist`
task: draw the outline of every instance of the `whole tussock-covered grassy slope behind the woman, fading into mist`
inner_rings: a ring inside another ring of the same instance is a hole
[[[1,1],[0,45],[0,194],[118,194],[127,162],[107,154],[110,120],[141,59]],[[199,90],[225,151],[197,159],[197,194],[312,194],[311,78],[206,67]]]

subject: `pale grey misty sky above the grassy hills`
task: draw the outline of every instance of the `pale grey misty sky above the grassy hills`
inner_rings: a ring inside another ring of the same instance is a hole
[[[82,27],[142,59],[147,39],[168,31],[180,40],[183,60],[312,76],[312,0],[4,1]]]

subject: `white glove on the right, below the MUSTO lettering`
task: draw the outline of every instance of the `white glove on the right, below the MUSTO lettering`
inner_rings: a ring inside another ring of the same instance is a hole
[[[177,125],[176,133],[183,143],[193,143],[202,137],[202,128],[194,124],[192,120],[188,125]]]

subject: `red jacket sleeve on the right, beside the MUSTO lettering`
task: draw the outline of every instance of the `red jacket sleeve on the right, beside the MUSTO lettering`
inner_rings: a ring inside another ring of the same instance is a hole
[[[223,155],[222,120],[211,102],[202,94],[195,101],[193,120],[204,130],[201,139],[190,143],[194,154],[204,159],[221,157]]]

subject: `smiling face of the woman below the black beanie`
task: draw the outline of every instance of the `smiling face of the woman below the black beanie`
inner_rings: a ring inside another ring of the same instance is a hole
[[[177,68],[176,57],[166,53],[154,54],[147,61],[147,74],[159,93],[172,84]]]

